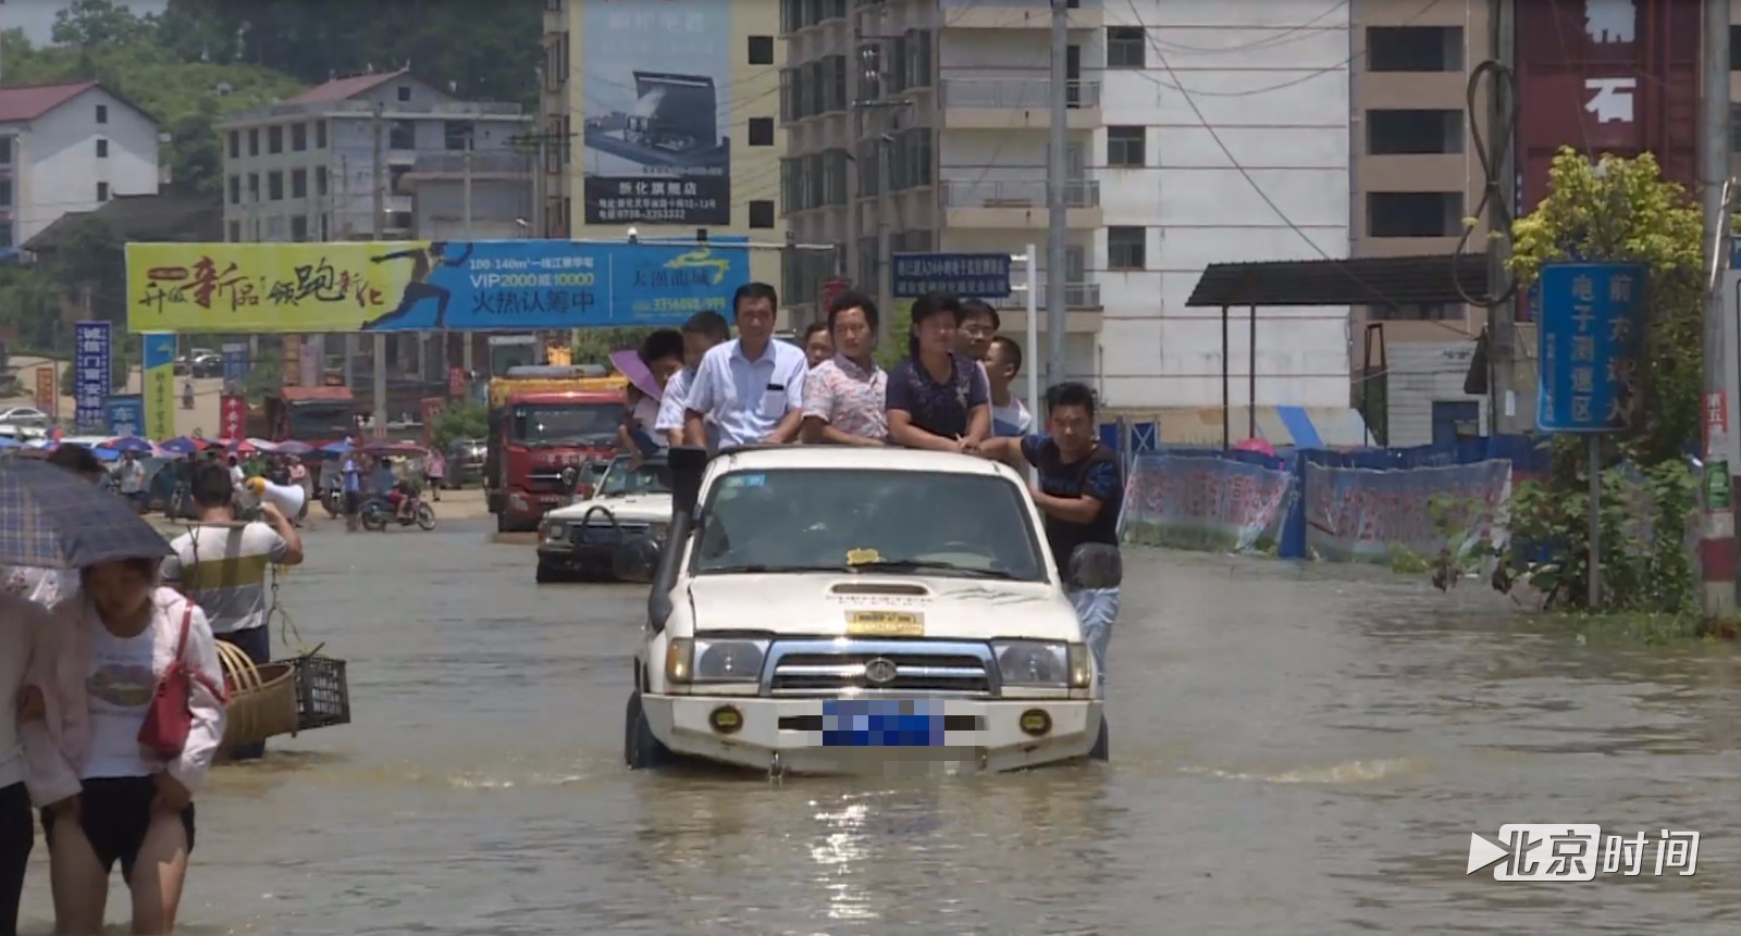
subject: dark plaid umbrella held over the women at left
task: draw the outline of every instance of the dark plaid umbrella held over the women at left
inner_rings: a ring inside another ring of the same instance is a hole
[[[80,569],[165,555],[164,534],[125,498],[42,461],[0,465],[0,564]]]

